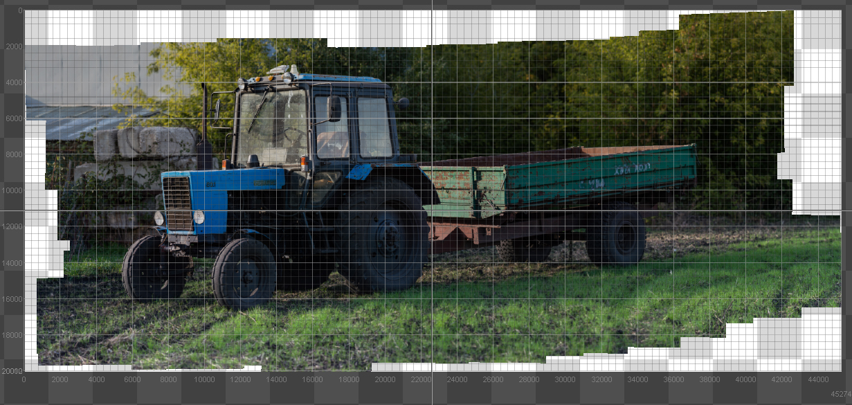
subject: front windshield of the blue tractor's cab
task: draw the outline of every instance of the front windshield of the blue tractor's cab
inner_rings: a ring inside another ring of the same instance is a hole
[[[245,165],[252,154],[267,166],[298,165],[299,158],[308,154],[307,100],[305,90],[243,94],[237,165]]]

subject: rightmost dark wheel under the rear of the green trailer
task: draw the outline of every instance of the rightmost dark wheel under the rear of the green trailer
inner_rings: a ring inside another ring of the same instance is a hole
[[[607,203],[590,218],[586,229],[586,252],[597,265],[627,266],[639,263],[645,254],[645,219],[636,206],[624,201]]]

